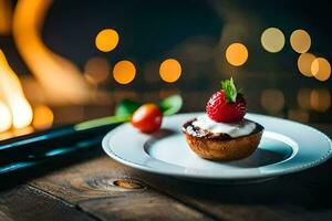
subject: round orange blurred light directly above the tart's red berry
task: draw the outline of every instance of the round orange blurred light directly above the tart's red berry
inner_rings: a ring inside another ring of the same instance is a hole
[[[240,66],[248,60],[248,50],[241,43],[232,43],[226,50],[226,59],[234,66]]]

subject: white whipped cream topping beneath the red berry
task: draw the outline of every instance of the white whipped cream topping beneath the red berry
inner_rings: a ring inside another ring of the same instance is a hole
[[[193,125],[214,134],[228,134],[230,137],[249,135],[256,128],[256,124],[246,118],[237,123],[218,123],[209,118],[206,114],[198,116],[193,122]]]

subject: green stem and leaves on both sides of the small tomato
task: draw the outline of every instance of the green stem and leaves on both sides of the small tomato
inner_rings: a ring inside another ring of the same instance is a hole
[[[134,102],[131,99],[123,99],[115,107],[115,115],[108,117],[102,117],[97,119],[92,119],[76,124],[74,126],[75,130],[91,129],[94,127],[121,124],[131,119],[132,114],[141,106],[143,103]],[[163,112],[163,115],[173,115],[179,112],[183,106],[183,98],[179,95],[173,95],[162,99],[157,106]]]

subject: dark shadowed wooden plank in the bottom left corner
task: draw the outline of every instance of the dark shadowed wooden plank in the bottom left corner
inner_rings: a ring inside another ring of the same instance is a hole
[[[0,192],[1,221],[93,221],[95,219],[28,186]]]

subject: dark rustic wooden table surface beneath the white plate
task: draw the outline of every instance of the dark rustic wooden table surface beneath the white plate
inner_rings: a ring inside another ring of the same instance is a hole
[[[319,128],[331,137],[332,126]],[[15,186],[0,192],[0,220],[332,220],[332,160],[262,183],[217,186],[142,172],[96,152],[32,170],[29,181],[1,178]]]

